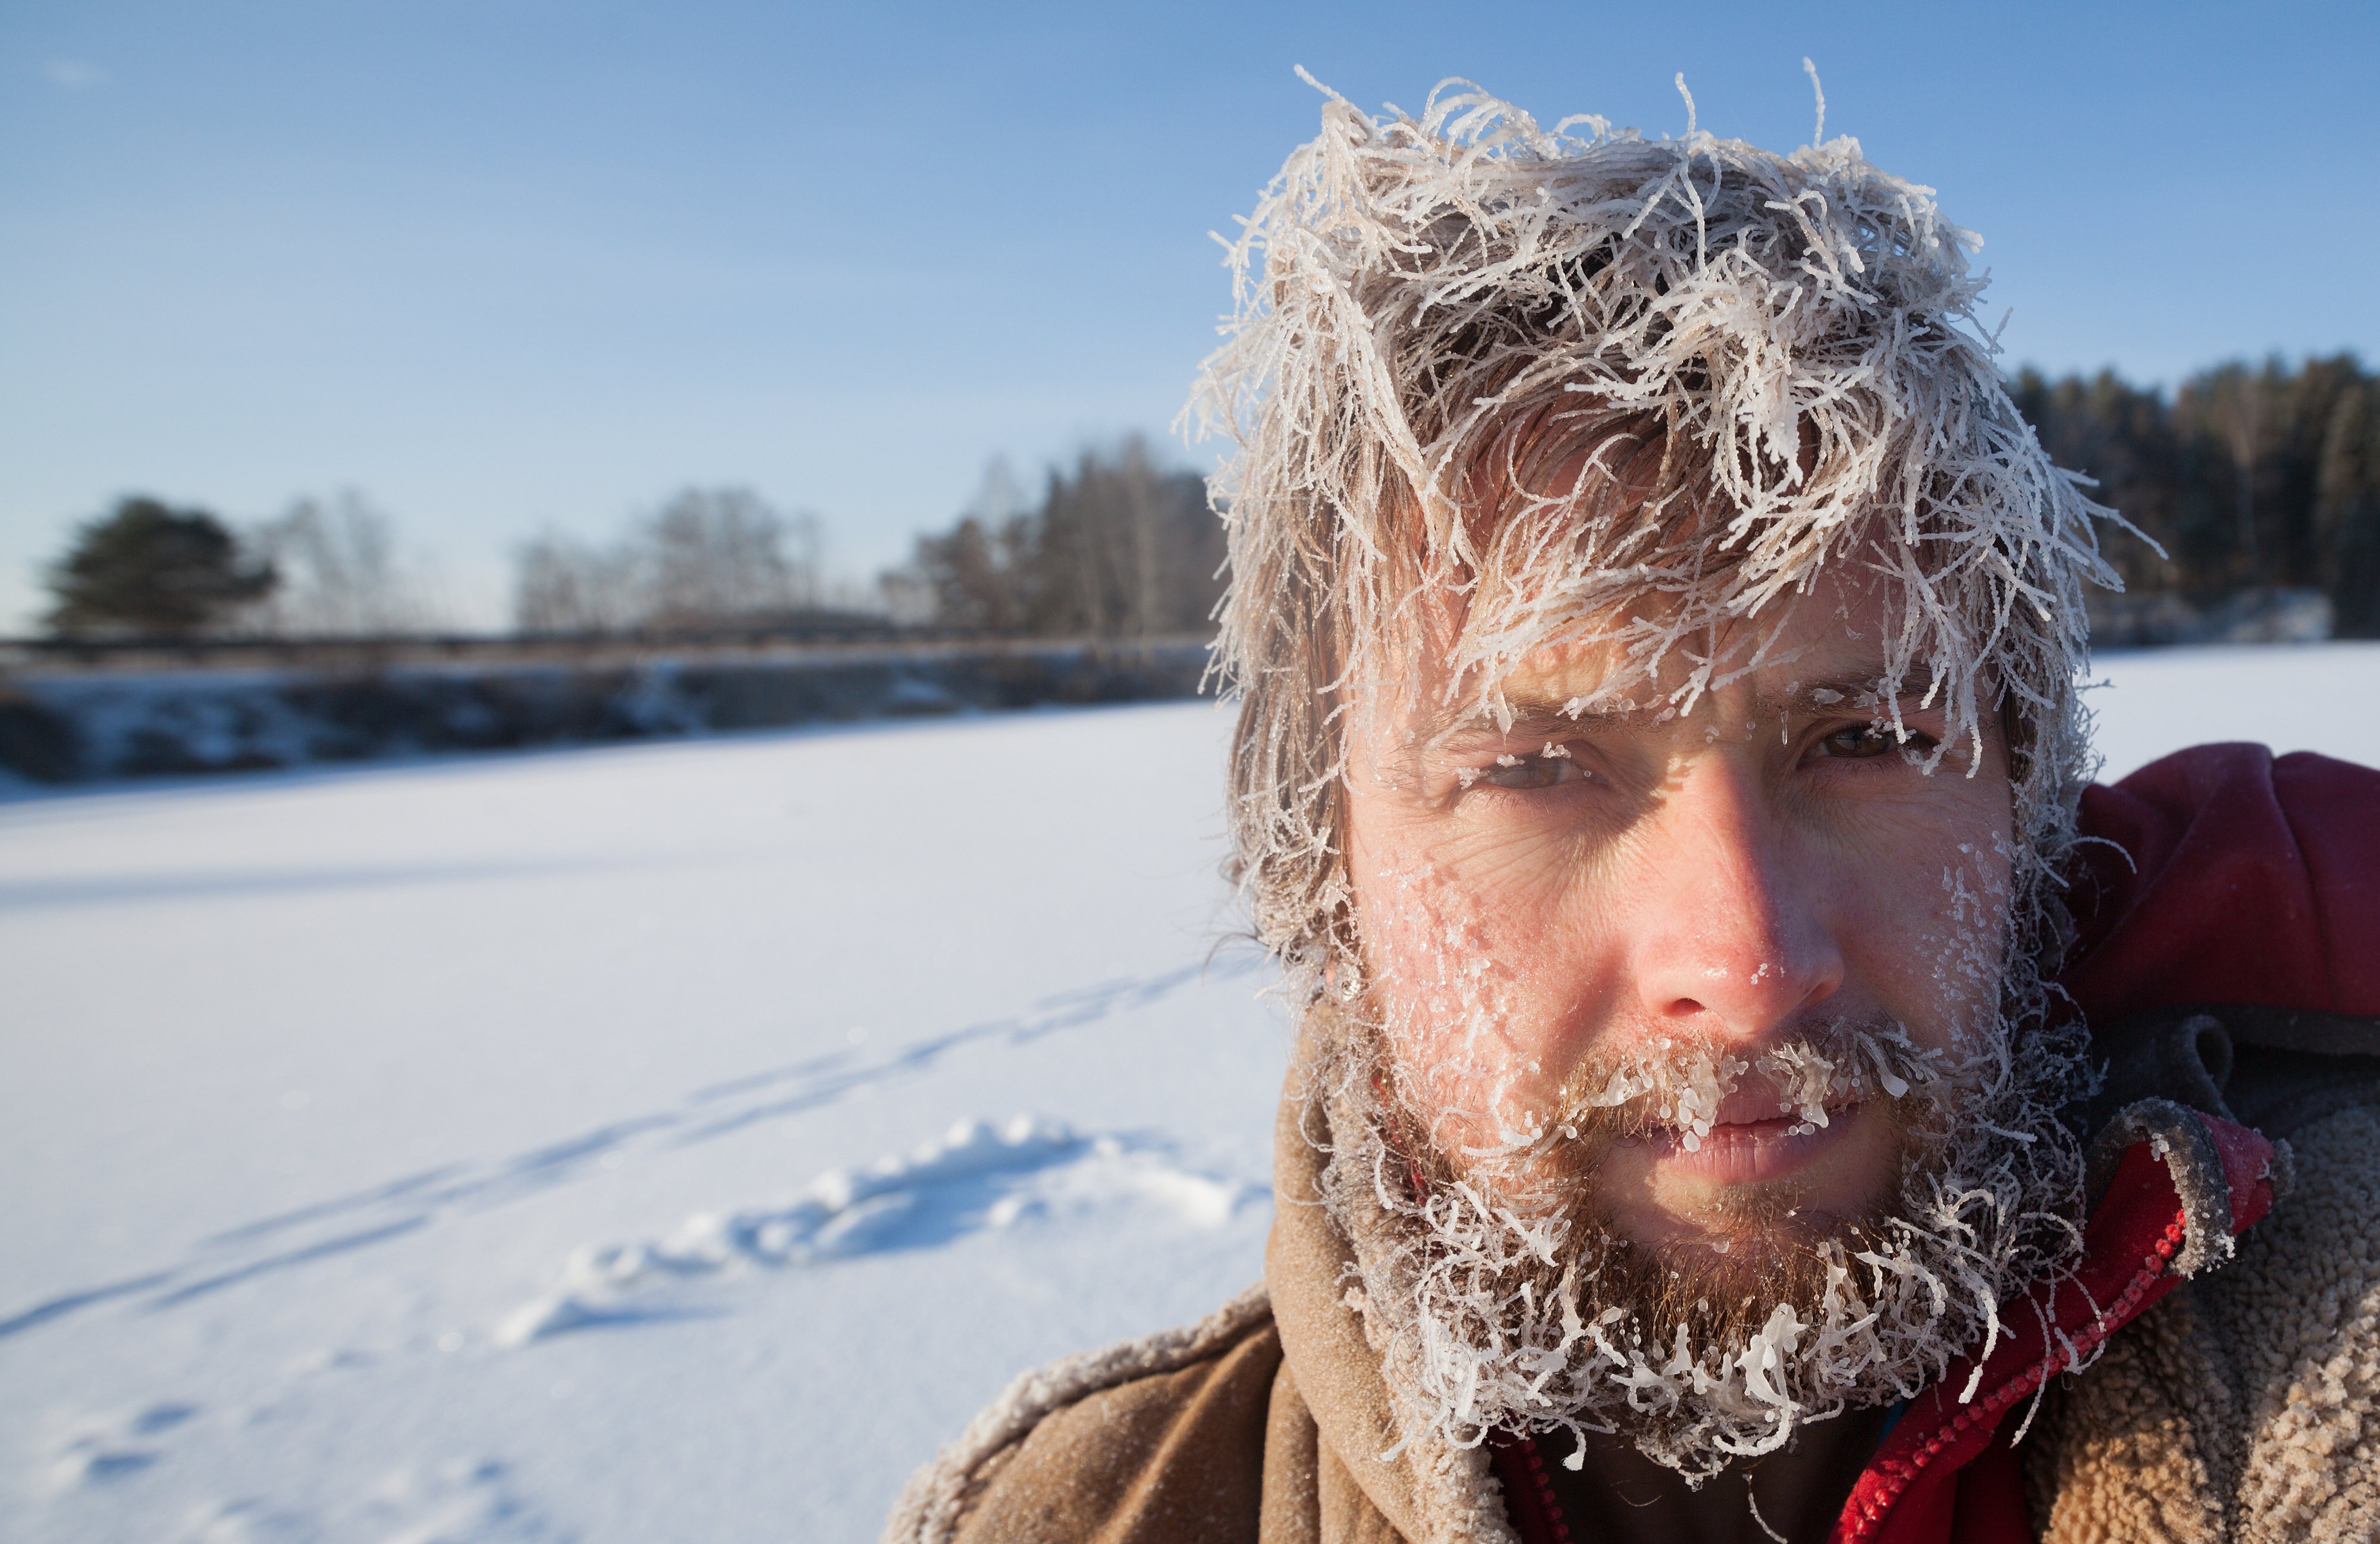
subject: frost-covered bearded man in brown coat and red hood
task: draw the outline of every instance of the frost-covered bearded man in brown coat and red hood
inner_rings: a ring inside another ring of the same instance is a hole
[[[2380,776],[2085,787],[2111,511],[1973,247],[1847,138],[1326,107],[1202,385],[1266,1282],[888,1539],[2380,1534]]]

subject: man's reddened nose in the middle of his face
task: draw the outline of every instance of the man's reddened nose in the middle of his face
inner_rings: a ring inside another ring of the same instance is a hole
[[[1647,1028],[1756,1040],[1842,987],[1818,868],[1759,771],[1697,759],[1647,821],[1635,994]]]

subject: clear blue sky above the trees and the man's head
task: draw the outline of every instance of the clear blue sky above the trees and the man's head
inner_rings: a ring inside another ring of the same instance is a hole
[[[683,483],[847,573],[1164,433],[1304,64],[1790,150],[1985,236],[2009,359],[2380,354],[2380,7],[424,0],[0,7],[0,630],[71,523],[359,488],[497,623],[512,547]],[[1192,452],[1180,452],[1192,454]],[[1197,452],[1204,454],[1204,452]]]

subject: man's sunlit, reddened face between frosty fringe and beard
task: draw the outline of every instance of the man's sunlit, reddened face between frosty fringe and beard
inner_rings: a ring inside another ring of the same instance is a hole
[[[1609,1068],[1683,1049],[1761,1066],[1844,1025],[1949,1054],[1999,1033],[2006,754],[1987,735],[1980,766],[1952,747],[1928,773],[1944,714],[1921,695],[1899,702],[1906,747],[1878,728],[1880,635],[1878,597],[1821,583],[1766,649],[1775,664],[1683,716],[1571,716],[1611,669],[1578,647],[1504,680],[1509,728],[1435,683],[1359,718],[1347,861],[1366,994],[1447,1166],[1576,1121]],[[1666,685],[1630,695],[1659,704]],[[1909,1137],[1875,1090],[1837,1087],[1816,1125],[1737,1078],[1702,1118],[1583,1135],[1564,1170],[1621,1239],[1735,1251],[1749,1270],[1892,1201]]]

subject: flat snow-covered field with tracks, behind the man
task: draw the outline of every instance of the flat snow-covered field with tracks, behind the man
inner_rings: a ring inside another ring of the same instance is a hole
[[[2111,773],[2380,761],[2380,647],[2118,657]],[[1211,707],[0,804],[0,1537],[866,1539],[1257,1278]]]

